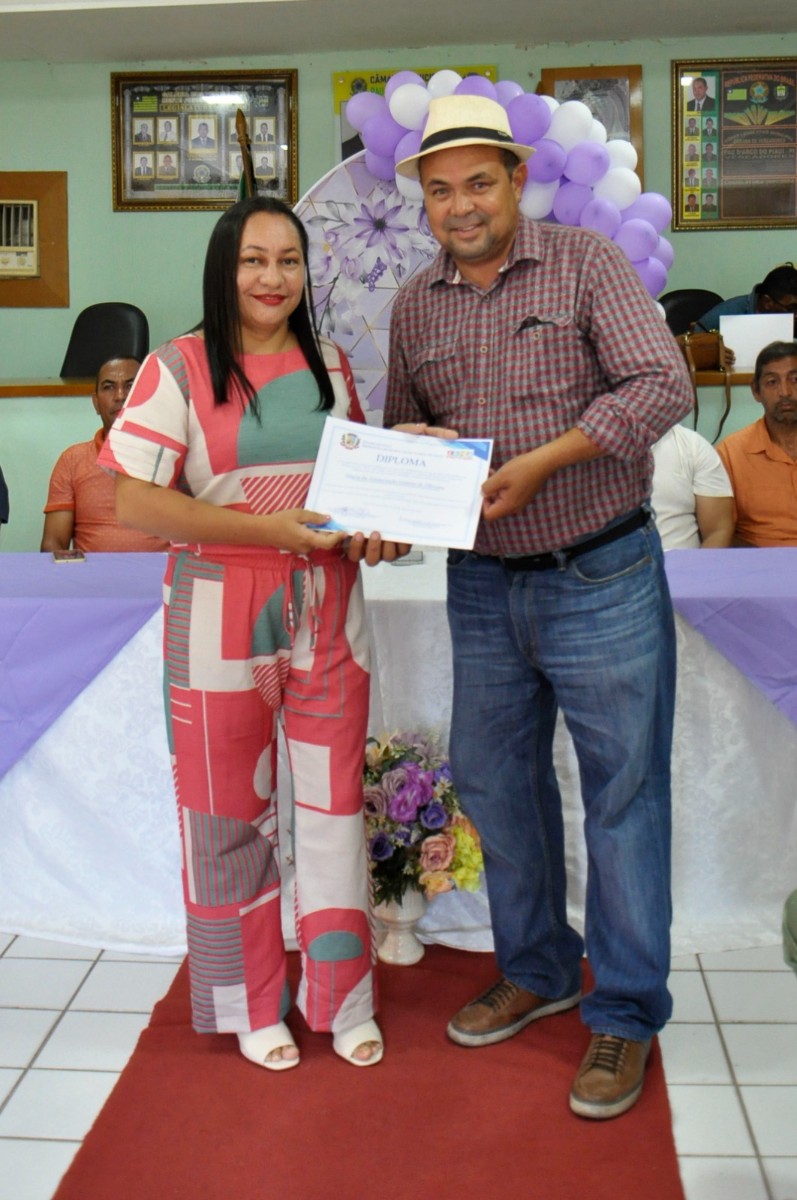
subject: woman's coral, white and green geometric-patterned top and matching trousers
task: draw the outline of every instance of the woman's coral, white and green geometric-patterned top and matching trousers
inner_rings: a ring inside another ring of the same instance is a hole
[[[346,360],[331,343],[324,354],[340,397],[332,412],[361,416]],[[240,402],[214,406],[200,340],[178,338],[150,355],[103,464],[248,511],[302,506],[325,418],[316,412],[312,374],[300,352],[247,358],[246,368],[258,386],[259,422]],[[194,1028],[258,1030],[290,1007],[277,852],[280,722],[293,779],[296,1003],[312,1030],[359,1025],[374,1010],[359,568],[340,551],[175,547],[164,600]]]

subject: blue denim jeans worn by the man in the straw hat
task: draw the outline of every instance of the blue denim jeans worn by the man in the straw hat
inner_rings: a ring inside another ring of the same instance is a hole
[[[581,1006],[594,1033],[645,1039],[669,1020],[670,751],[675,629],[653,524],[561,569],[510,571],[451,551],[451,769],[479,829],[498,966],[555,1000],[577,991],[568,924],[561,708],[579,760],[588,875]]]

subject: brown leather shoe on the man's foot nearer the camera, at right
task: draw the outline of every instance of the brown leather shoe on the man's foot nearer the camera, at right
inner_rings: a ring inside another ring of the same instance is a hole
[[[595,1121],[627,1112],[642,1094],[649,1051],[649,1040],[594,1033],[570,1092],[573,1111]]]

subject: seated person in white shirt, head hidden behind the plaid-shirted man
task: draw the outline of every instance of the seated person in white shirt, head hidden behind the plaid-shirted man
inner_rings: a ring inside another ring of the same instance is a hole
[[[733,539],[733,488],[713,445],[675,425],[653,445],[655,524],[665,550],[718,550]]]

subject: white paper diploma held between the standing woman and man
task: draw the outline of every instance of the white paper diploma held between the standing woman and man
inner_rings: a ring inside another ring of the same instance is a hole
[[[306,506],[326,529],[472,550],[490,470],[490,438],[400,433],[328,416]]]

